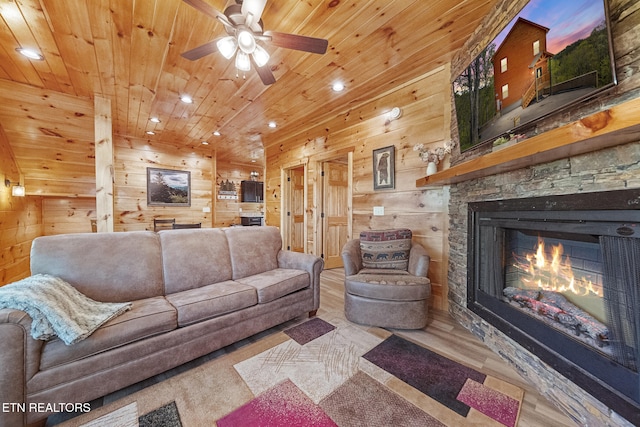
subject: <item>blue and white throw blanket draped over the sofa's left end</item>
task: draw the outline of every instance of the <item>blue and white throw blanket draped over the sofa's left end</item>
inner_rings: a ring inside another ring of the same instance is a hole
[[[0,287],[0,308],[22,310],[31,316],[34,339],[58,337],[71,345],[129,310],[131,303],[94,301],[58,277],[36,274]]]

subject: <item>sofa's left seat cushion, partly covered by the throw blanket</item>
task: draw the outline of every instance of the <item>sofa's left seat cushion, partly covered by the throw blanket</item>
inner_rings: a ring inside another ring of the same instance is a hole
[[[45,343],[40,370],[169,332],[176,327],[176,309],[164,297],[133,301],[131,310],[111,319],[77,344],[68,346],[60,339]]]

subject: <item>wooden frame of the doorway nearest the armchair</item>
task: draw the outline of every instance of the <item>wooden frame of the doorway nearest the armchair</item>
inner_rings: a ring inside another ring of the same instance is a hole
[[[315,183],[316,186],[313,192],[313,204],[316,206],[314,212],[314,253],[317,255],[324,254],[324,218],[322,212],[324,211],[324,179],[322,176],[323,163],[330,162],[332,160],[343,159],[347,157],[347,241],[351,240],[353,236],[353,151],[355,148],[350,147],[345,150],[340,150],[333,153],[328,153],[324,156],[317,156],[315,160]]]

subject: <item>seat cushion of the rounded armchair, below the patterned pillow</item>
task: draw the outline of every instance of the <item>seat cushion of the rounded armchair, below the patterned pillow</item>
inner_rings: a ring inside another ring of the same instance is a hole
[[[356,274],[345,277],[351,295],[390,301],[419,301],[431,295],[431,282],[412,275]]]

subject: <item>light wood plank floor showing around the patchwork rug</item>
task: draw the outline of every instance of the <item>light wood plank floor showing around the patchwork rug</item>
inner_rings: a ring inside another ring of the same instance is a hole
[[[344,270],[341,268],[325,270],[321,276],[320,309],[318,315],[342,315],[344,309]],[[92,408],[108,404],[135,393],[150,385],[164,381],[174,375],[199,366],[209,360],[242,352],[242,348],[249,343],[268,339],[274,333],[285,330],[304,319],[294,319],[268,331],[256,334],[246,340],[232,344],[211,354],[205,355],[192,362],[186,363],[163,374],[134,384],[124,390],[112,393],[102,399],[92,402]],[[374,329],[367,328],[365,329]],[[560,412],[551,402],[538,393],[518,373],[504,362],[498,355],[486,348],[482,342],[469,331],[456,323],[444,311],[430,310],[429,322],[424,329],[408,331],[393,330],[399,336],[417,342],[452,360],[470,366],[484,374],[500,378],[525,390],[524,401],[518,422],[519,427],[550,427],[576,426],[568,417]],[[71,418],[70,414],[57,414],[49,417],[46,426],[58,425]]]

